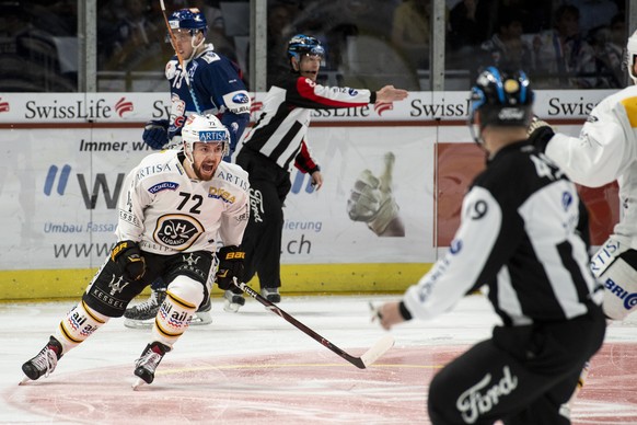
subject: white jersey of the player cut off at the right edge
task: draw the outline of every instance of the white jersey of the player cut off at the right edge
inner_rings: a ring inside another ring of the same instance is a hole
[[[637,249],[637,87],[600,102],[579,137],[556,134],[546,154],[581,185],[598,187],[617,181],[622,218],[614,237]]]

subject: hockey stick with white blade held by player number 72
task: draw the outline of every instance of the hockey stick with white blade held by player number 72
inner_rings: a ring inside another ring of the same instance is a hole
[[[325,340],[323,336],[319,335],[316,332],[314,332],[313,330],[311,330],[310,328],[308,328],[303,323],[299,322],[292,315],[290,315],[289,313],[287,313],[282,309],[278,308],[276,305],[268,301],[266,298],[262,297],[260,294],[258,294],[257,291],[252,289],[250,286],[245,285],[243,282],[240,283],[236,279],[234,279],[234,285],[239,289],[241,289],[242,291],[244,291],[245,294],[247,294],[248,296],[251,296],[252,298],[254,298],[255,300],[257,300],[258,302],[264,305],[269,311],[271,311],[273,313],[275,313],[277,315],[280,315],[286,321],[292,323],[294,326],[297,326],[299,330],[301,330],[301,332],[303,332],[306,335],[310,335],[313,340],[317,341],[326,348],[331,349],[332,352],[336,353],[340,357],[345,358],[347,361],[351,363],[354,366],[358,367],[359,369],[367,368],[372,363],[378,360],[383,354],[385,354],[391,347],[394,346],[393,336],[385,335],[382,338],[380,338],[371,348],[369,348],[367,352],[364,352],[362,356],[360,356],[360,357],[352,356],[351,354],[348,354],[348,353],[344,352],[343,349],[338,348],[336,345],[332,344],[329,341]]]

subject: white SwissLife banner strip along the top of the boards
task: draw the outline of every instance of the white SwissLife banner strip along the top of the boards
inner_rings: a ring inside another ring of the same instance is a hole
[[[551,119],[583,119],[609,90],[537,91],[535,114]],[[252,93],[252,116],[257,118],[266,93]],[[410,92],[395,104],[368,105],[345,110],[316,111],[313,123],[465,120],[466,92]],[[144,123],[167,118],[169,93],[1,93],[0,124],[104,124]]]

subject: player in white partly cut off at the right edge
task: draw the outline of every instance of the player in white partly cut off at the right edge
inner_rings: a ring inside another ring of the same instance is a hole
[[[628,73],[637,84],[637,31],[628,38]],[[605,287],[604,313],[623,320],[637,305],[637,85],[612,94],[590,113],[579,137],[530,126],[530,140],[576,183],[598,187],[617,181],[621,220],[591,259]]]

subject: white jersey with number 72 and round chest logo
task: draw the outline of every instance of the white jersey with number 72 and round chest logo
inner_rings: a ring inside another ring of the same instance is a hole
[[[179,150],[146,157],[132,169],[118,202],[118,241],[155,254],[216,252],[240,245],[248,219],[250,184],[239,165],[220,162],[215,176],[190,180]]]

